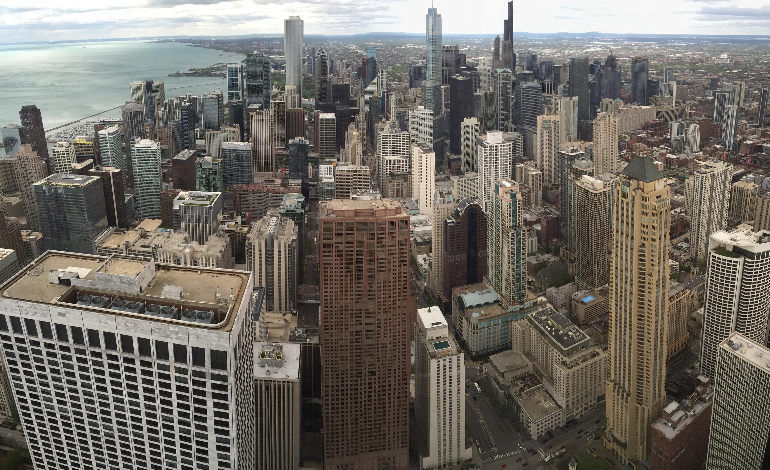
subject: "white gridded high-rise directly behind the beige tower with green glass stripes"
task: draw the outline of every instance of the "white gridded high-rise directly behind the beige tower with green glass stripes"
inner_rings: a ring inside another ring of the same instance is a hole
[[[490,131],[487,135],[477,137],[478,148],[478,175],[479,192],[478,202],[484,208],[484,212],[489,211],[490,200],[492,198],[492,183],[500,178],[511,176],[512,165],[512,147],[511,142],[503,138],[500,131]]]

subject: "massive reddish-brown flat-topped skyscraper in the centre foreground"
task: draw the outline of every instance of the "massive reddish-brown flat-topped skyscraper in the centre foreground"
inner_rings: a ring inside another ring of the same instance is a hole
[[[320,232],[324,469],[407,468],[409,216],[334,199]]]

